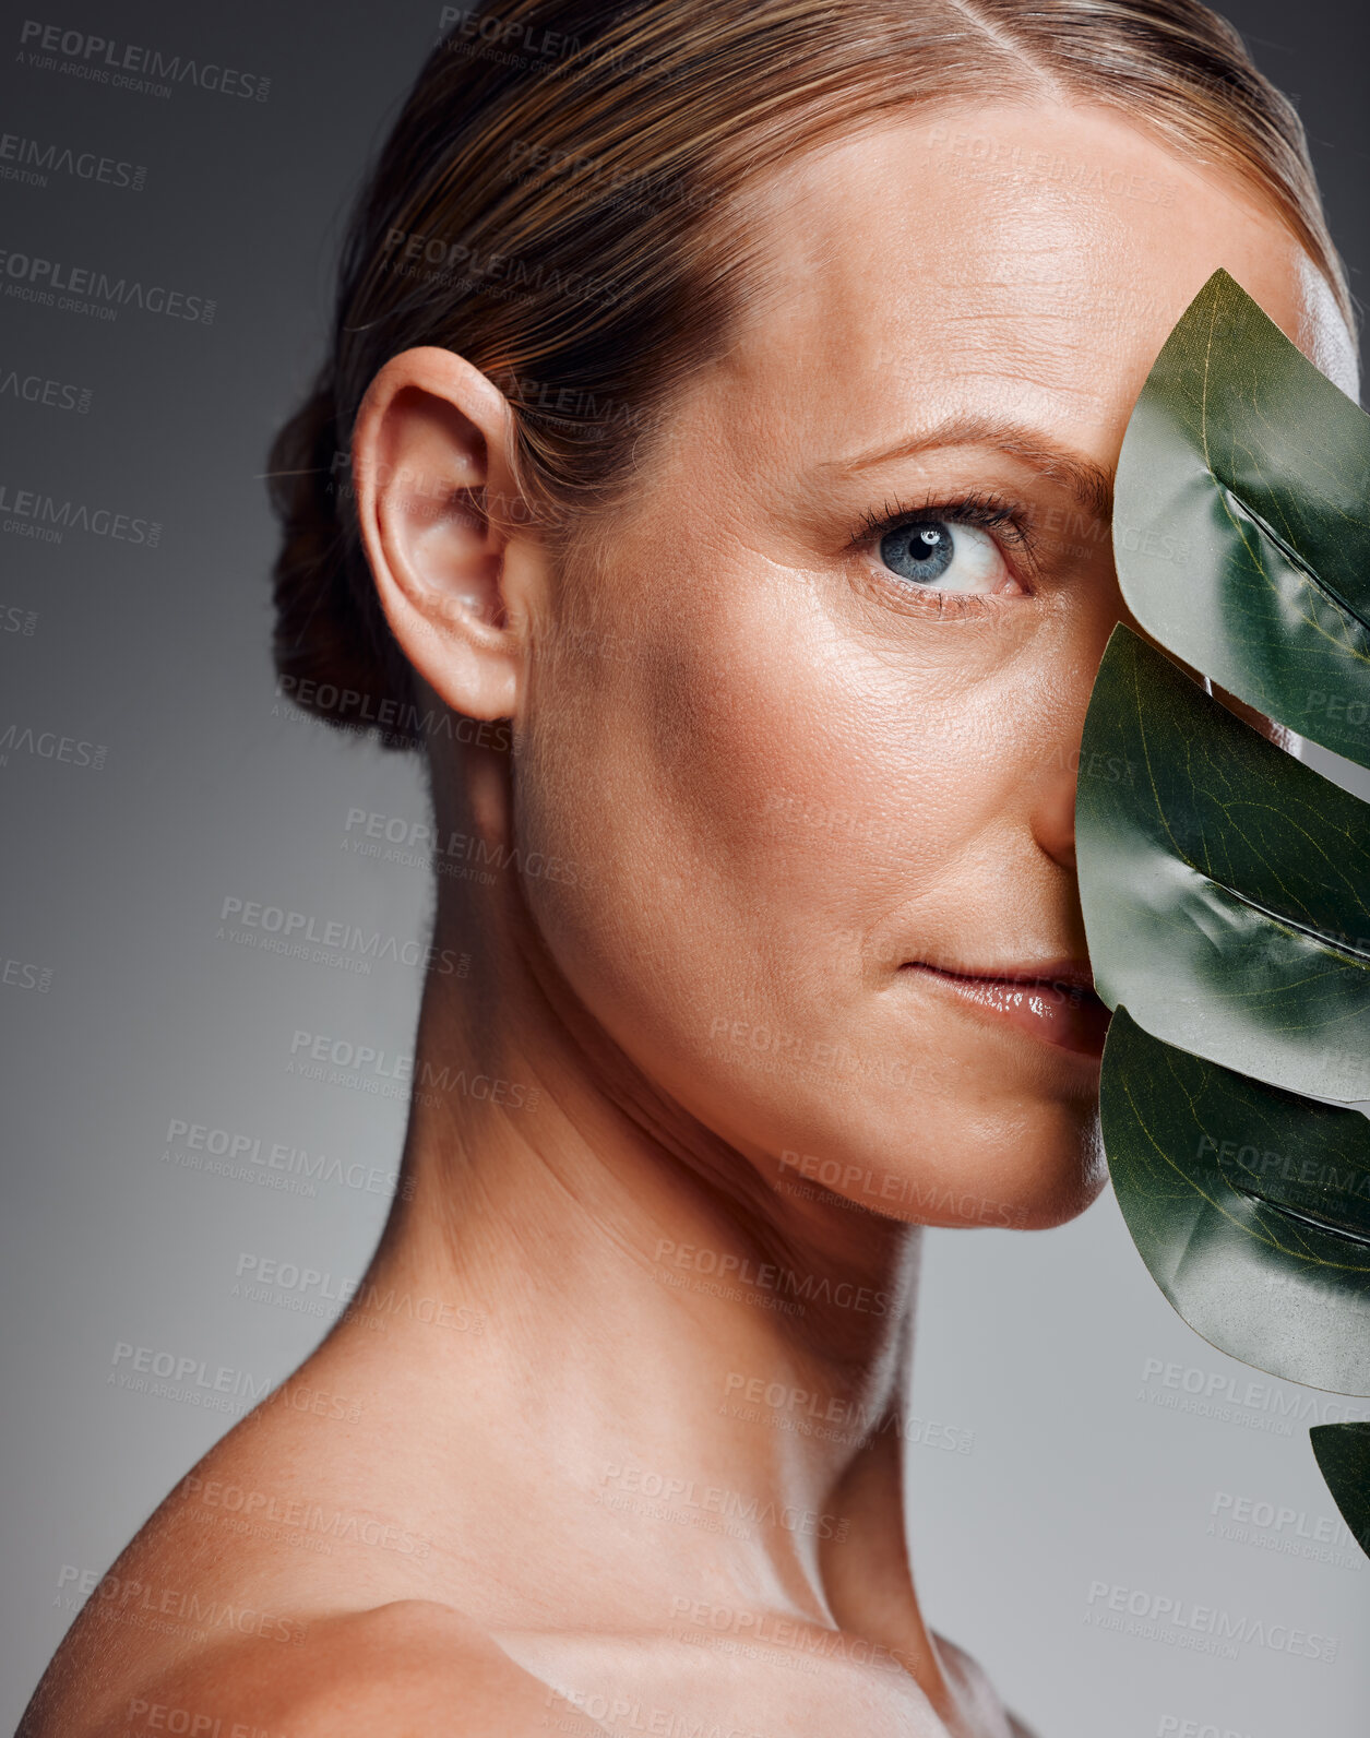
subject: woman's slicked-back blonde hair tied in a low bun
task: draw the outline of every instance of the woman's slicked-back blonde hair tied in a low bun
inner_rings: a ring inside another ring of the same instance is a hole
[[[749,177],[890,111],[1116,108],[1273,207],[1354,332],[1299,116],[1196,0],[508,0],[445,19],[356,203],[329,358],[269,461],[282,685],[388,746],[422,732],[348,488],[376,372],[438,344],[489,374],[539,532],[574,537],[728,342]]]

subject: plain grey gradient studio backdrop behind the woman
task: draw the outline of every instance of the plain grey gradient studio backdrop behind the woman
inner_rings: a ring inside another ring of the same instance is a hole
[[[118,1347],[226,1366],[259,1389],[323,1319],[235,1298],[240,1255],[355,1276],[384,1217],[379,1194],[278,1192],[163,1151],[179,1118],[264,1147],[382,1168],[398,1158],[398,1098],[287,1067],[297,1031],[407,1051],[417,972],[342,973],[217,930],[226,897],[402,940],[422,935],[429,911],[424,871],[346,848],[353,808],[422,819],[417,766],[336,740],[275,699],[259,473],[318,355],[341,214],[438,10],[63,9],[66,28],[269,76],[264,103],[37,70],[16,57],[23,14],[0,26],[0,132],[146,165],[143,191],[0,181],[3,245],[217,302],[212,325],[136,308],[106,325],[0,294],[0,375],[17,367],[92,395],[85,414],[0,396],[0,478],[163,527],[155,549],[85,532],[61,546],[0,539],[0,624],[37,612],[31,633],[0,626],[0,726],[108,747],[101,770],[24,753],[0,763],[0,959],[17,963],[0,984],[10,1726],[71,1620],[64,1566],[106,1568],[231,1422],[196,1404],[207,1390],[193,1378],[179,1399],[123,1385]],[[1353,0],[1227,12],[1299,99],[1365,290],[1367,12]],[[24,987],[40,972],[49,987]],[[1264,1403],[1227,1418],[1186,1415],[1156,1404],[1182,1390],[1147,1380],[1147,1361],[1240,1390],[1254,1375],[1170,1312],[1109,1197],[1034,1237],[932,1234],[914,1404],[974,1432],[965,1455],[909,1449],[934,1623],[1043,1738],[1144,1738],[1174,1731],[1167,1721],[1224,1738],[1363,1735],[1370,1564],[1210,1533],[1220,1493],[1290,1505],[1307,1524],[1332,1514],[1307,1420],[1280,1418],[1300,1390],[1264,1383]],[[1337,1660],[1248,1644],[1233,1662],[1111,1634],[1088,1622],[1095,1582],[1335,1635]]]

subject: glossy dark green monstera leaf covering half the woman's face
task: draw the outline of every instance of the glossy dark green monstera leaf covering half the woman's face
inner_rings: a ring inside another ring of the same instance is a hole
[[[1370,419],[1215,273],[1128,422],[1113,542],[1149,636],[1370,766]],[[1128,627],[1080,754],[1104,1149],[1179,1314],[1259,1370],[1370,1394],[1370,806]],[[1370,1425],[1314,1430],[1370,1538]]]

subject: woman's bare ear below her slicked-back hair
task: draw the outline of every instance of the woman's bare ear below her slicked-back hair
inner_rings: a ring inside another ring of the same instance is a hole
[[[419,676],[468,718],[513,718],[523,681],[529,600],[515,594],[518,563],[502,528],[527,520],[511,454],[504,395],[433,346],[381,368],[353,431],[356,513],[381,608]]]

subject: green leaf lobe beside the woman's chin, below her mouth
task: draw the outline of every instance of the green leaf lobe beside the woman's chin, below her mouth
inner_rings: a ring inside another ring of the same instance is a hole
[[[1370,1123],[1163,1045],[1127,1008],[1099,1111],[1118,1206],[1184,1321],[1257,1370],[1370,1394]]]

